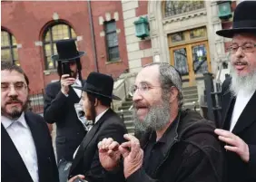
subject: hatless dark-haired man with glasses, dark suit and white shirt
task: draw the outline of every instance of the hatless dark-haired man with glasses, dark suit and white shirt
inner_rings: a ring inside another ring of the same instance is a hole
[[[57,182],[52,139],[44,119],[26,110],[28,92],[25,72],[1,63],[1,181]]]

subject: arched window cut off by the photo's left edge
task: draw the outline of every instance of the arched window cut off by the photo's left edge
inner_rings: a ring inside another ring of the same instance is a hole
[[[15,36],[4,30],[1,30],[1,62],[20,65]]]

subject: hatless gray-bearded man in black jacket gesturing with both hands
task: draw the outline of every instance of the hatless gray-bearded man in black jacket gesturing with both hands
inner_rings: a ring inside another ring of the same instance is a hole
[[[143,134],[140,140],[125,134],[122,144],[100,141],[103,168],[123,169],[127,182],[222,181],[224,156],[214,124],[196,111],[182,110],[182,78],[174,67],[145,65],[131,92],[136,129]]]

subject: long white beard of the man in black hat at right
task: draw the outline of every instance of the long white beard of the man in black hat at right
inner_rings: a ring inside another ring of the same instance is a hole
[[[233,96],[237,96],[239,91],[243,91],[245,94],[250,94],[256,90],[256,71],[250,72],[246,76],[238,75],[234,67],[231,65],[231,93]]]

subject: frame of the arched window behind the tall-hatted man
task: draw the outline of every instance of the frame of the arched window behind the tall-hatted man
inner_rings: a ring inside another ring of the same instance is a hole
[[[74,28],[70,25],[70,24],[66,24],[66,23],[64,23],[64,22],[59,22],[59,23],[55,23],[55,24],[50,24],[50,25],[48,25],[47,27],[45,27],[45,29],[44,29],[44,34],[43,34],[43,41],[42,41],[42,43],[43,43],[43,50],[44,50],[44,70],[46,71],[50,71],[50,70],[56,70],[57,69],[57,64],[56,64],[56,62],[54,62],[53,60],[52,60],[52,62],[53,62],[53,64],[54,64],[54,68],[49,68],[49,65],[48,65],[48,62],[47,62],[47,56],[46,56],[46,50],[45,50],[45,47],[46,47],[46,45],[48,45],[48,44],[50,44],[50,46],[51,46],[51,55],[54,55],[54,43],[56,43],[56,42],[58,42],[58,41],[60,41],[60,40],[64,40],[64,39],[59,39],[59,40],[56,40],[56,41],[54,41],[54,37],[53,37],[53,27],[54,26],[56,26],[56,25],[62,25],[62,24],[64,24],[64,25],[66,25],[67,27],[68,27],[68,37],[69,37],[69,39],[68,40],[74,40],[74,41],[76,41],[77,40],[77,38],[72,38],[72,29],[73,29],[73,31],[74,31]],[[50,34],[50,36],[49,36],[49,38],[50,38],[50,41],[45,41],[45,38],[46,38],[46,34],[49,32],[49,34]],[[75,36],[76,36],[76,34],[75,34]],[[76,36],[77,37],[77,36]]]

